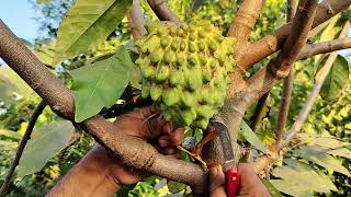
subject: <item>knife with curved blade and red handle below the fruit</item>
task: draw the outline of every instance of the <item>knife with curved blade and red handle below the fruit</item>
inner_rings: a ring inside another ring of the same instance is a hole
[[[240,176],[236,169],[229,130],[225,124],[218,120],[211,120],[211,126],[216,129],[223,148],[227,196],[236,197],[239,190]]]

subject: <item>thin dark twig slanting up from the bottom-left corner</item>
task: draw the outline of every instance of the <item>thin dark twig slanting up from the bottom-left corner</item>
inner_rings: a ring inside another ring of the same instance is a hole
[[[11,163],[10,170],[8,172],[7,177],[3,181],[3,184],[1,185],[0,188],[0,196],[3,196],[7,190],[8,187],[10,185],[11,178],[13,176],[13,173],[15,171],[15,167],[19,165],[20,159],[22,157],[23,150],[27,143],[27,141],[31,139],[31,135],[34,128],[34,125],[37,120],[37,118],[39,117],[39,115],[43,113],[44,108],[46,107],[46,103],[44,101],[41,101],[41,103],[36,106],[36,108],[33,112],[33,115],[31,117],[31,120],[29,123],[29,126],[26,127],[26,130],[23,135],[23,138],[21,139],[21,142],[19,144],[18,151],[15,153],[14,160]]]

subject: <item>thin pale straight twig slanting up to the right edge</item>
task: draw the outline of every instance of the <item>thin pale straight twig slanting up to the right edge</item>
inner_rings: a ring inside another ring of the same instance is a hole
[[[346,25],[343,26],[339,38],[346,37],[348,34],[348,31],[350,28],[350,23],[347,22]],[[325,79],[327,78],[332,63],[335,62],[336,58],[338,57],[338,53],[331,53],[326,61],[326,63],[324,65],[324,67],[317,72],[316,74],[316,84],[312,91],[312,93],[308,96],[307,102],[305,103],[304,107],[301,109],[297,119],[295,120],[294,125],[292,126],[292,128],[288,130],[288,132],[286,134],[284,140],[278,144],[278,148],[281,149],[285,146],[288,144],[288,142],[296,136],[296,134],[302,129],[303,125],[305,124],[307,116],[312,109],[312,107],[314,106],[317,96],[320,92],[321,85],[325,81]]]

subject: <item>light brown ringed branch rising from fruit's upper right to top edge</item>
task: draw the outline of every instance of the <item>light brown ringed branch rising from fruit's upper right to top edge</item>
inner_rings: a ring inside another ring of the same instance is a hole
[[[230,25],[228,36],[248,42],[262,7],[263,0],[245,0]]]

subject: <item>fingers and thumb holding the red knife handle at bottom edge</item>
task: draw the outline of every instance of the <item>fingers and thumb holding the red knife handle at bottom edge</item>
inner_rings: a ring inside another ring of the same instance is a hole
[[[254,173],[250,164],[239,163],[237,166],[240,175],[240,188],[238,196],[241,197],[270,197],[270,193]],[[210,196],[226,197],[225,174],[222,167],[215,166],[210,170]]]

